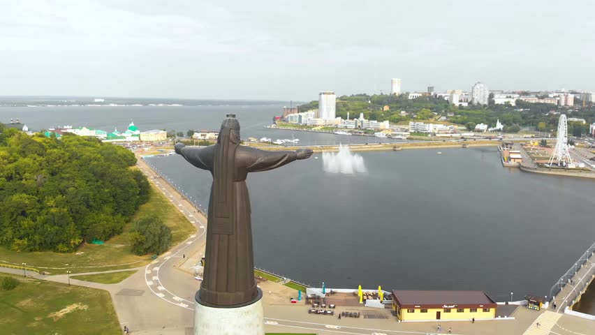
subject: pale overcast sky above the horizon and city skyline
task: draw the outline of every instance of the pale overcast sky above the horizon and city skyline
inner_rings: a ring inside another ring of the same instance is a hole
[[[0,96],[309,101],[392,77],[595,90],[595,1],[0,0]]]

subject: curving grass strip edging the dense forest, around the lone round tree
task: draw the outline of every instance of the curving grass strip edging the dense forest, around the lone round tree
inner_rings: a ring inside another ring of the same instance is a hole
[[[163,193],[151,184],[149,201],[140,206],[133,221],[142,216],[159,216],[172,230],[172,246],[184,241],[186,237],[196,232],[195,228],[170,204]],[[35,267],[50,274],[65,274],[66,270],[76,272],[90,272],[102,270],[127,269],[140,267],[151,261],[151,255],[138,256],[131,252],[128,241],[130,224],[124,227],[124,233],[105,241],[103,246],[83,244],[75,253],[54,253],[41,251],[32,253],[18,253],[0,246],[0,262],[5,261],[17,265],[26,262],[28,267]],[[50,267],[56,269],[43,269]]]

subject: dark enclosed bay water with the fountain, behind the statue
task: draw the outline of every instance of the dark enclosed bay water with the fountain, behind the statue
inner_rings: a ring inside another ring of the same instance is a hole
[[[311,158],[250,174],[258,267],[330,288],[550,288],[595,237],[595,182],[503,168],[495,148],[360,153],[365,174]],[[179,156],[149,161],[207,205],[211,176]]]

